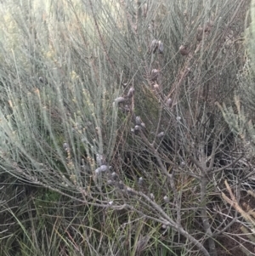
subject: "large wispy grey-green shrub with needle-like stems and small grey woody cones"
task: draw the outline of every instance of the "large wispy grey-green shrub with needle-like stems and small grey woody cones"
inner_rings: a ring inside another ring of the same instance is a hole
[[[135,213],[171,234],[176,253],[216,255],[224,227],[208,214],[212,179],[239,156],[215,168],[224,122],[214,103],[236,85],[245,1],[58,3],[4,13],[1,168],[91,208]],[[190,232],[195,215],[202,236]],[[144,230],[133,255],[150,241]]]

